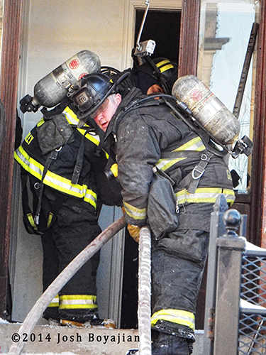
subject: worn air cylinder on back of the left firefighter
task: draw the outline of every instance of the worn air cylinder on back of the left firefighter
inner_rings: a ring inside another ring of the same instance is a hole
[[[54,107],[67,94],[67,89],[86,74],[99,72],[101,62],[90,50],[81,50],[39,80],[34,87],[33,107]],[[34,110],[33,110],[34,111]]]

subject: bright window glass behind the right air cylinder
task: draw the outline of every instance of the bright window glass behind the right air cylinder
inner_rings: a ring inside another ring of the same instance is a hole
[[[201,1],[199,28],[198,77],[233,112],[238,92],[250,32],[258,22],[259,1],[221,0]],[[255,97],[256,48],[248,70],[243,102],[238,119],[241,130],[239,138],[253,139],[253,116]],[[229,159],[230,170],[240,179],[235,187],[238,193],[250,190],[251,155],[241,154]]]

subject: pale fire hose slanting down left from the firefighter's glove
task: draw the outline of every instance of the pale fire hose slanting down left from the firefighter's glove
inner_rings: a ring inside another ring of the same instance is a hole
[[[117,219],[110,226],[97,236],[91,244],[89,244],[83,251],[81,251],[71,263],[57,276],[57,278],[40,296],[31,311],[28,313],[21,327],[18,329],[18,334],[21,335],[21,341],[11,345],[9,355],[19,355],[23,349],[25,342],[22,341],[22,334],[30,334],[38,319],[43,315],[45,309],[50,305],[52,299],[59,293],[62,287],[72,278],[72,276],[79,271],[79,269],[86,263],[89,258],[101,249],[107,241],[109,241],[118,231],[121,231],[126,226],[124,217]]]

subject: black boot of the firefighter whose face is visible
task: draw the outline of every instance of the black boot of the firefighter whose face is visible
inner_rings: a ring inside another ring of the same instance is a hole
[[[189,342],[186,338],[159,333],[152,346],[152,355],[189,355]]]

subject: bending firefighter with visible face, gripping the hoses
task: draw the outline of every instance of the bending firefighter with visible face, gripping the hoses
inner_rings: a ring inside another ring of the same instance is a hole
[[[138,241],[145,224],[152,233],[153,355],[189,355],[211,212],[220,194],[233,203],[231,174],[223,156],[165,100],[137,88],[122,97],[107,76],[99,100],[95,76],[87,76],[77,95],[86,101],[89,93],[84,114],[105,131],[106,148],[116,157],[129,233]]]

